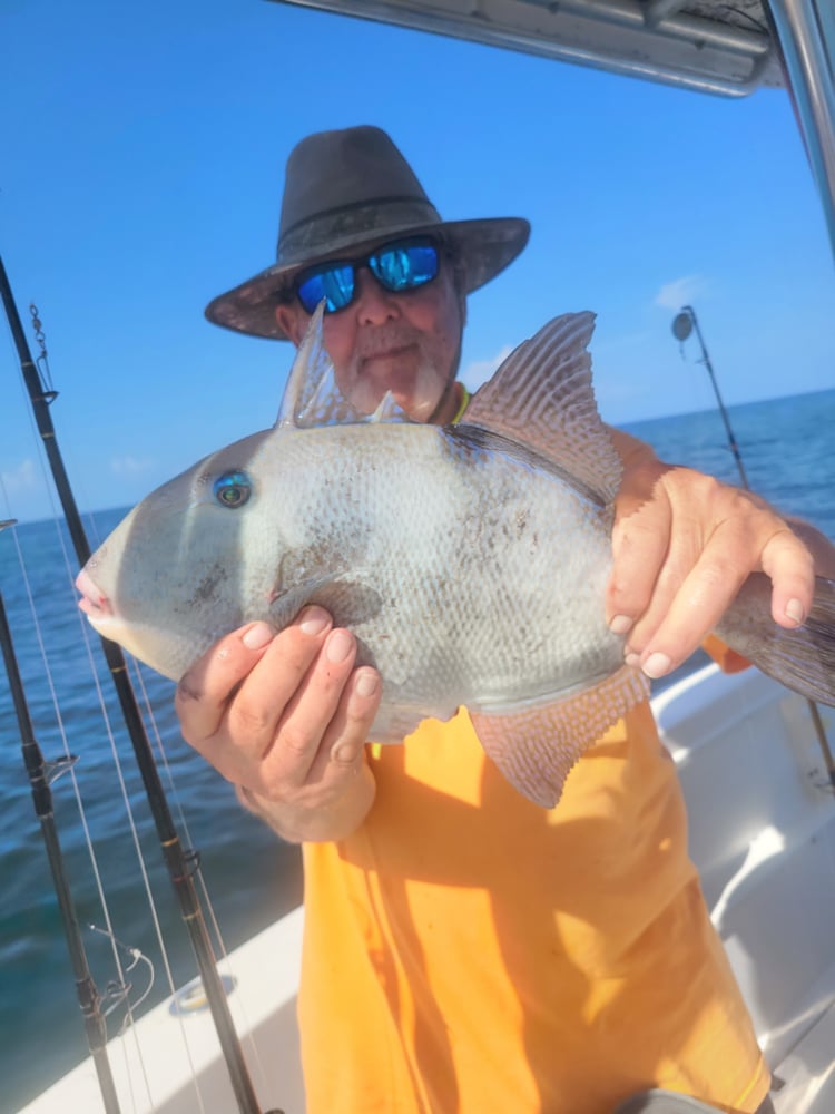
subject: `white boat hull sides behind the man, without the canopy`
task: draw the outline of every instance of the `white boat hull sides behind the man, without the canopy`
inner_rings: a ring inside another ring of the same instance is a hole
[[[756,671],[707,665],[652,703],[685,790],[705,896],[774,1073],[777,1114],[829,1114],[835,793],[806,701]],[[220,964],[256,1091],[265,1110],[286,1114],[304,1112],[295,1025],[303,917],[294,909]],[[109,1051],[125,1110],[236,1110],[199,984],[156,1006]],[[20,1114],[68,1110],[105,1111],[91,1059]]]

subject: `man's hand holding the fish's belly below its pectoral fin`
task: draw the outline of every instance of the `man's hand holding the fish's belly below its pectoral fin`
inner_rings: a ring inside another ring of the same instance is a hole
[[[277,635],[253,623],[222,638],[177,688],[186,742],[285,839],[338,839],[371,808],[381,683],[355,657],[354,636],[307,607]]]

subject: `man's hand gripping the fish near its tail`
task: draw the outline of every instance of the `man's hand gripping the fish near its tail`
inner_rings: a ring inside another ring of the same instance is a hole
[[[812,528],[804,540],[759,497],[689,468],[612,431],[625,463],[616,500],[607,619],[627,634],[630,664],[650,677],[680,665],[713,629],[746,577],[766,573],[775,623],[803,624],[818,571],[833,547]],[[800,527],[798,527],[800,529]]]

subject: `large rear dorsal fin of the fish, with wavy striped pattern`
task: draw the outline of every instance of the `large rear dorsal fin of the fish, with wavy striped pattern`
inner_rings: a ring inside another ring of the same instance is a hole
[[[611,502],[621,463],[591,387],[593,330],[595,314],[588,311],[549,321],[479,388],[462,426],[530,446]]]

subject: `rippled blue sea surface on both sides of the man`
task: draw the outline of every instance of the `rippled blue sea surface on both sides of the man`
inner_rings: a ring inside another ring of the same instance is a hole
[[[835,390],[733,407],[729,418],[750,486],[835,539]],[[717,412],[626,428],[666,460],[738,482]],[[122,514],[94,516],[91,544]],[[132,1001],[147,991],[141,1013],[170,993],[169,971],[175,985],[191,978],[194,960],[97,638],[76,607],[77,564],[65,553],[71,554],[66,531],[51,521],[0,532],[0,592],[45,758],[78,755],[52,794],[92,977],[106,994],[117,977],[112,948],[124,966],[134,962],[125,949],[137,949],[144,958],[127,978]],[[229,786],[189,751],[177,731],[171,684],[145,668],[134,680],[153,711],[148,731],[178,832],[199,852],[204,909],[219,926],[212,928],[216,950],[232,949],[301,900],[298,852],[245,814]],[[86,1042],[1,666],[0,794],[0,1114],[14,1114],[86,1055]],[[108,925],[117,945],[102,931]],[[125,1007],[107,1001],[114,1006],[108,1032],[115,1033]]]

